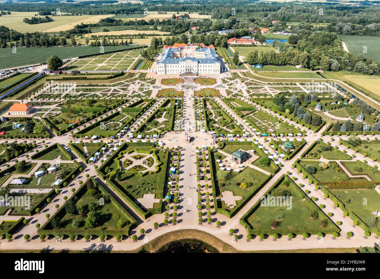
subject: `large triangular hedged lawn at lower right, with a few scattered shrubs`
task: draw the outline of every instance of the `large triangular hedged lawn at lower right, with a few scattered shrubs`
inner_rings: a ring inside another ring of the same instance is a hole
[[[258,206],[253,213],[248,216],[247,221],[252,226],[251,232],[255,234],[274,233],[288,234],[296,233],[301,235],[304,232],[317,234],[319,232],[334,229],[334,224],[320,211],[302,191],[297,189],[294,183],[286,186],[281,183],[276,189],[288,190],[291,192],[292,202],[290,206]],[[290,208],[290,209],[288,209]],[[318,211],[319,218],[310,218],[310,212]],[[272,222],[278,222],[278,227],[272,229]],[[327,222],[325,228],[321,227],[321,222]]]

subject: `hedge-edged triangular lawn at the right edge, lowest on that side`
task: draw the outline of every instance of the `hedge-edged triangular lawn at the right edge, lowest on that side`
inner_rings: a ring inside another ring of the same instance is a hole
[[[376,190],[369,189],[346,189],[331,190],[338,194],[347,210],[353,211],[358,217],[367,223],[367,218],[374,216],[372,211],[380,210],[380,195]],[[364,204],[366,201],[366,204]],[[368,225],[368,224],[367,224]]]

